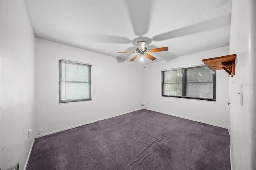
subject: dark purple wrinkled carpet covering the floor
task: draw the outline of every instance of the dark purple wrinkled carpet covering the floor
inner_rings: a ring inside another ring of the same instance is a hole
[[[228,130],[140,110],[36,138],[27,170],[230,170]]]

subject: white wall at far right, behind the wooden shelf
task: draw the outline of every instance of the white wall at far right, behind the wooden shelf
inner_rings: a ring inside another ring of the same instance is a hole
[[[256,169],[256,1],[233,1],[230,53],[237,54],[230,79],[231,157],[233,170]],[[243,85],[243,105],[240,105]]]

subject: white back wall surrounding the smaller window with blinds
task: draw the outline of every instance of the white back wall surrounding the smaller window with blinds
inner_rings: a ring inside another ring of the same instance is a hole
[[[92,64],[92,101],[58,104],[58,59]],[[36,130],[51,133],[142,109],[139,64],[36,38]]]

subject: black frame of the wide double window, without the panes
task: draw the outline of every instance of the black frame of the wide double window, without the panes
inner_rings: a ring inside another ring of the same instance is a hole
[[[213,99],[209,98],[199,98],[199,97],[187,97],[186,95],[186,84],[189,84],[191,82],[186,82],[186,70],[188,68],[196,68],[196,67],[207,67],[206,65],[194,65],[194,66],[187,66],[187,67],[179,67],[179,68],[173,68],[173,69],[165,69],[161,70],[162,75],[162,83],[161,83],[161,95],[162,97],[176,97],[176,98],[183,98],[183,99],[196,99],[196,100],[204,100],[204,101],[216,101],[216,70],[212,70],[212,83],[213,83]],[[182,75],[182,96],[176,96],[176,95],[164,95],[164,72],[165,71],[174,71],[174,70],[181,70]],[[201,83],[201,82],[200,82]],[[202,82],[202,83],[209,83],[209,82]]]

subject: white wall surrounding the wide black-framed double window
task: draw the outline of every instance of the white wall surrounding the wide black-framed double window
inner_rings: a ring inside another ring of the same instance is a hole
[[[228,54],[226,46],[146,65],[144,103],[149,102],[147,109],[228,128],[229,78],[224,70],[216,71],[216,102],[161,96],[161,70],[203,65],[202,59]]]

